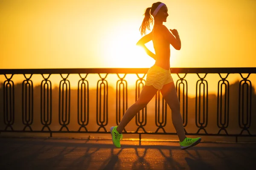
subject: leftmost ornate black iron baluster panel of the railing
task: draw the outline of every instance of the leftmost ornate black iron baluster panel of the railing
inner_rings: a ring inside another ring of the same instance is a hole
[[[8,127],[13,130],[12,125],[14,124],[14,82],[11,80],[13,74],[10,78],[7,78],[6,74],[6,81],[3,82],[3,121],[6,125],[5,130]]]

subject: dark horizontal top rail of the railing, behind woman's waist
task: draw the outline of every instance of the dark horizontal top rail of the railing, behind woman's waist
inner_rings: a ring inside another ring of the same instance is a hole
[[[170,68],[172,73],[256,73],[256,67],[244,68]],[[145,74],[148,68],[37,68],[0,69],[0,74]]]

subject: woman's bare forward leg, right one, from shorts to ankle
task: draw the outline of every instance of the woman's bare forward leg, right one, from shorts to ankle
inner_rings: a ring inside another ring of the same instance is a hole
[[[175,127],[180,142],[182,142],[186,138],[186,135],[180,114],[180,102],[177,96],[174,82],[170,82],[164,85],[160,92],[172,110],[172,124]]]

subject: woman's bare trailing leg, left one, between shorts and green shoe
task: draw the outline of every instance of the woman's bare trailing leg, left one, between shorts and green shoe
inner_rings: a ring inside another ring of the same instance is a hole
[[[125,112],[120,124],[116,127],[116,130],[119,133],[122,133],[122,130],[125,126],[131,121],[132,118],[143,108],[146,107],[148,102],[154,97],[158,89],[154,88],[153,85],[145,85],[140,93],[139,99],[131,105],[130,108]]]

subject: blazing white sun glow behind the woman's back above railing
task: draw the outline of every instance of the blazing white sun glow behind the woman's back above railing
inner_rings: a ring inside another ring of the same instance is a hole
[[[141,35],[138,31],[126,28],[122,31],[114,31],[105,38],[105,54],[108,65],[112,68],[150,68],[154,65],[154,59],[149,57],[143,48],[137,46]],[[148,42],[148,48],[154,52],[152,42]]]

